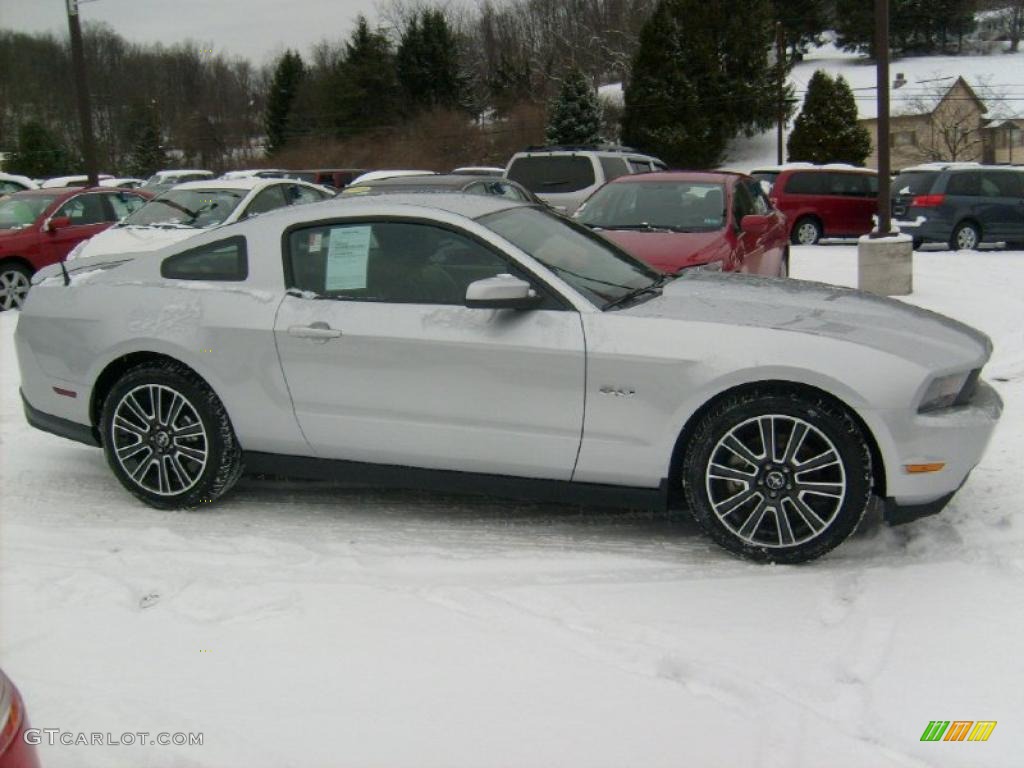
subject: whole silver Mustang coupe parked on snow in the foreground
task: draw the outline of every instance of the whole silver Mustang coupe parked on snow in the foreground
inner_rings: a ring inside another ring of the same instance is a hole
[[[732,552],[817,557],[871,497],[938,512],[1001,411],[988,339],[797,281],[652,271],[499,198],[284,209],[37,275],[40,429],[163,509],[244,471],[585,504],[685,499]]]

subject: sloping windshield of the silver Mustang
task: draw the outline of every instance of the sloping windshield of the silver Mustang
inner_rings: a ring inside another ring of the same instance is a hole
[[[512,208],[479,221],[600,307],[663,276],[603,238],[539,208]]]

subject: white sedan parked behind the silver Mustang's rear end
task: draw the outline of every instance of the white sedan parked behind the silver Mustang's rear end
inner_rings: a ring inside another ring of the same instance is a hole
[[[189,181],[154,198],[120,223],[80,243],[67,260],[157,251],[203,229],[333,197],[334,193],[326,187],[294,179]]]

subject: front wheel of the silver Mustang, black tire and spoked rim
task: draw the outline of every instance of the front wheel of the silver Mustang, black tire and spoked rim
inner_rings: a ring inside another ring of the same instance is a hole
[[[762,437],[769,427],[774,461]],[[726,397],[705,414],[682,481],[691,514],[719,545],[757,562],[800,563],[856,529],[870,498],[871,457],[839,406],[766,388]]]

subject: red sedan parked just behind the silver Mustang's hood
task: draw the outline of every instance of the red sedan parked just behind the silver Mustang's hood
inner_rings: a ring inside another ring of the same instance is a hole
[[[665,171],[620,176],[574,218],[667,272],[788,273],[785,217],[739,173]]]

